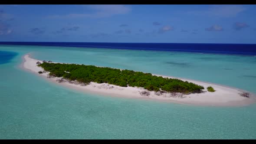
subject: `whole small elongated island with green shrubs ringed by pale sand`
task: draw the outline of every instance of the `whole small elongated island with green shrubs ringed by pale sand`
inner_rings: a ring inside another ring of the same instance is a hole
[[[23,59],[23,68],[82,92],[194,105],[240,106],[254,102],[249,92],[207,82],[128,69],[47,62],[32,59],[30,54]]]

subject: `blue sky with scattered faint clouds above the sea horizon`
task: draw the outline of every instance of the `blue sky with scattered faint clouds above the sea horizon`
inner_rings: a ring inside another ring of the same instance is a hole
[[[0,5],[0,41],[256,43],[256,5]]]

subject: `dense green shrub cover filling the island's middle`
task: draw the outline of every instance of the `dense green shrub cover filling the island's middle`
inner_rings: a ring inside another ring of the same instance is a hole
[[[50,72],[49,75],[63,77],[68,80],[77,80],[85,84],[90,82],[108,83],[122,87],[144,87],[149,91],[181,93],[200,93],[204,89],[200,85],[184,82],[179,79],[168,79],[155,76],[151,73],[135,72],[132,70],[112,69],[108,67],[96,67],[94,65],[76,65],[43,62],[39,64]],[[66,72],[65,72],[66,71]]]

